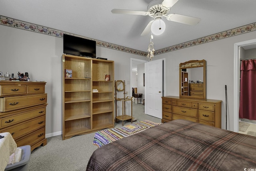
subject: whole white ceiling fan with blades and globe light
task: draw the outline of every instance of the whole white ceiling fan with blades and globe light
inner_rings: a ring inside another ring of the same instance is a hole
[[[162,2],[162,3],[161,3]],[[182,24],[188,24],[194,26],[200,22],[200,18],[184,16],[180,14],[168,14],[170,8],[176,3],[178,0],[153,0],[148,4],[148,11],[135,11],[135,10],[122,10],[122,9],[113,9],[111,12],[113,14],[132,14],[132,15],[142,15],[142,16],[150,16],[154,18],[154,20],[150,21],[141,35],[146,35],[152,31],[155,35],[160,35],[164,32],[165,23],[162,20],[162,17],[166,17],[167,20],[178,22]]]

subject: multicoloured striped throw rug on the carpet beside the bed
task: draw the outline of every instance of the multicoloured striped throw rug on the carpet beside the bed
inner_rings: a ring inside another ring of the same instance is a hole
[[[134,124],[126,125],[120,128],[112,128],[96,132],[93,144],[101,147],[108,143],[114,142],[124,137],[131,136],[138,132],[142,132],[148,128],[160,125],[162,123],[155,123],[149,120],[143,120]]]

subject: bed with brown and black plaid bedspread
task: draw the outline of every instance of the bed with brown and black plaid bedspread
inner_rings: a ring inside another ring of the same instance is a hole
[[[96,149],[86,170],[250,169],[256,170],[256,137],[187,120],[174,120]]]

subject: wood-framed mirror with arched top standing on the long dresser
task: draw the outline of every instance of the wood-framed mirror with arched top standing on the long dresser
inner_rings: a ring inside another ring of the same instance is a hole
[[[206,61],[180,63],[180,97],[206,99]]]

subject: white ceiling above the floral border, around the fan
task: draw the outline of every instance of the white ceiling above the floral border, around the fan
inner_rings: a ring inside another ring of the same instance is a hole
[[[113,8],[147,11],[151,0],[0,0],[0,15],[48,28],[147,51],[150,33],[140,34],[149,16],[112,14]],[[256,22],[256,0],[179,0],[169,13],[201,18],[196,26],[163,18],[166,30],[155,35],[159,50]]]

